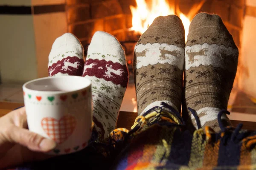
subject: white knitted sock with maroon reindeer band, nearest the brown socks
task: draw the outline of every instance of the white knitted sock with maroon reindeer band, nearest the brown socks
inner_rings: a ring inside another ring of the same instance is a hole
[[[92,80],[93,122],[99,138],[106,138],[116,126],[128,83],[124,50],[111,34],[97,31],[93,35],[83,77]]]

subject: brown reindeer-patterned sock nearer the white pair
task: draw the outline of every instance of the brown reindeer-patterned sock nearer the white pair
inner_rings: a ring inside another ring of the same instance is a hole
[[[184,27],[179,17],[157,17],[134,49],[134,75],[141,115],[166,102],[180,111],[184,64]]]

